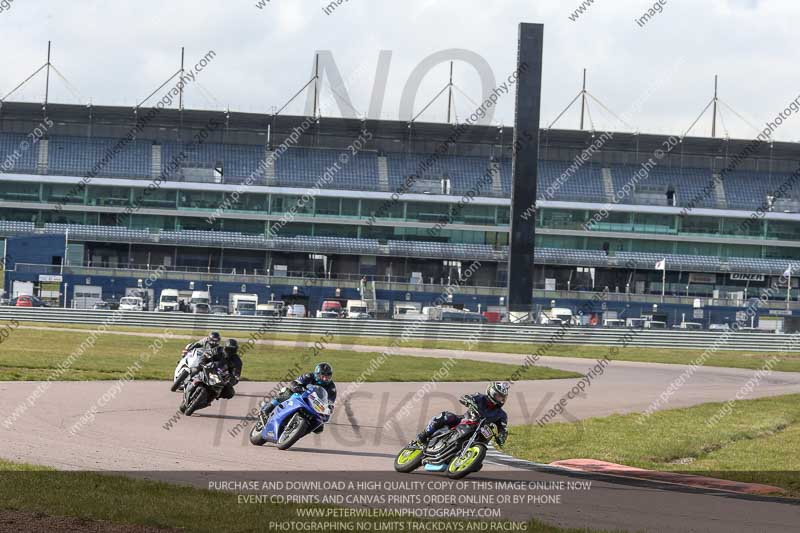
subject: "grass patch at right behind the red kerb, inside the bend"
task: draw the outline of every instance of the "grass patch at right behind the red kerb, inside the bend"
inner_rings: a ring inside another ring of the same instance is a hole
[[[506,451],[538,462],[597,459],[782,487],[800,497],[800,394],[511,429]]]

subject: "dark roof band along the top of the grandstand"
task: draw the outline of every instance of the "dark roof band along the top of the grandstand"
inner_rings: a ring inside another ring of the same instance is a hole
[[[144,117],[152,108],[139,108]],[[132,107],[83,106],[48,104],[47,115],[56,122],[60,135],[95,135],[102,137],[124,136],[135,124],[137,113]],[[27,133],[31,123],[40,121],[44,109],[40,103],[4,102],[0,105],[0,131]],[[224,120],[226,133],[240,144],[263,144],[268,128],[280,142],[306,117],[270,114],[241,113],[208,110],[163,109],[148,124],[140,138],[174,138],[178,128],[202,128],[211,119]],[[373,133],[375,148],[386,152],[431,152],[454,135],[453,125],[398,120],[368,120],[367,128]],[[347,146],[362,130],[364,122],[357,119],[322,117],[318,131],[305,135],[300,145],[342,148]],[[579,130],[540,130],[541,141],[549,149],[581,150],[594,142],[596,132]],[[605,151],[637,150],[653,152],[661,147],[665,135],[614,132],[603,145]],[[755,135],[754,135],[755,137]],[[462,154],[508,156],[513,142],[511,126],[469,126],[460,130],[456,144],[464,147]],[[723,139],[711,137],[686,137],[681,144],[683,155],[704,157],[734,157],[752,145],[752,139]],[[494,151],[492,151],[494,147]],[[497,149],[502,147],[502,154]],[[751,147],[752,149],[752,147]],[[542,154],[544,158],[560,157]],[[800,161],[800,144],[791,142],[762,143],[752,153],[753,157],[772,157],[776,160]]]

